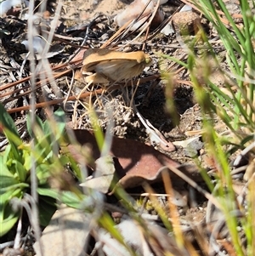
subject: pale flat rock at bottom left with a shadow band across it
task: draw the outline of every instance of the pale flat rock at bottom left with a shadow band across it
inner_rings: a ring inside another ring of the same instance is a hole
[[[85,255],[90,222],[82,211],[62,205],[42,232],[42,253],[39,242],[33,246],[37,256]]]

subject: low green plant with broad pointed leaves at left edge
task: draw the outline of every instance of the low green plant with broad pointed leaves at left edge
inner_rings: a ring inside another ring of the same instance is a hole
[[[75,190],[74,185],[68,182],[71,177],[68,177],[65,168],[67,164],[71,164],[73,161],[69,156],[59,155],[59,142],[64,136],[65,113],[60,110],[56,111],[51,121],[46,122],[42,122],[37,117],[33,125],[31,125],[30,116],[27,116],[27,129],[35,145],[32,148],[31,142],[22,142],[14,121],[1,104],[0,111],[2,113],[0,117],[1,127],[9,143],[5,151],[0,153],[2,166],[0,236],[3,236],[12,229],[22,216],[19,205],[22,205],[24,198],[28,198],[27,195],[31,196],[39,208],[39,222],[42,226],[48,225],[48,221],[56,210],[57,200],[78,208],[83,196],[80,191]],[[38,198],[31,195],[33,163],[36,166]],[[72,169],[77,178],[81,178],[81,171],[76,164],[72,165]],[[16,205],[16,210],[12,205]],[[31,206],[33,205],[31,203]],[[36,218],[36,216],[32,217]]]

